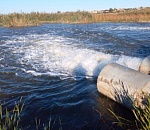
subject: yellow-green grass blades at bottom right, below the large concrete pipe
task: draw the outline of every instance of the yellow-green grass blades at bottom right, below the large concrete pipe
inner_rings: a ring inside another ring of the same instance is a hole
[[[133,103],[134,104],[134,103]],[[134,104],[134,109],[132,110],[135,121],[127,120],[123,117],[117,116],[111,109],[109,111],[117,119],[119,126],[126,129],[136,129],[136,130],[150,130],[150,97],[147,96],[147,103],[145,104],[144,109],[136,107]]]

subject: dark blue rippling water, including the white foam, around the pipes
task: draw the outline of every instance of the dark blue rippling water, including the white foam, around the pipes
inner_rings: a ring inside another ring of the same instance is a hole
[[[148,55],[150,23],[0,27],[0,100],[11,108],[23,97],[24,129],[51,117],[53,129],[105,130],[114,121],[110,106],[132,115],[99,94],[98,74],[112,62],[138,70]]]

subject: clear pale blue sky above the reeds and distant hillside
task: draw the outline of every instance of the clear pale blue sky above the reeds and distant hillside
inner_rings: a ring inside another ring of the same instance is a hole
[[[150,0],[0,0],[0,14],[150,7]]]

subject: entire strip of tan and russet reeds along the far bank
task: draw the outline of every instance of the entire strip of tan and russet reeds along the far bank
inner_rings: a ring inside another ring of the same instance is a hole
[[[117,13],[85,11],[57,13],[11,13],[0,15],[4,27],[35,26],[43,23],[150,22],[150,8]]]

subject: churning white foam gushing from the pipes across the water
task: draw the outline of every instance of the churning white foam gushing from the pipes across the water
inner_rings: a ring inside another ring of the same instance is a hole
[[[39,75],[97,76],[102,68],[115,62],[138,70],[142,59],[129,56],[104,54],[87,48],[79,48],[73,39],[60,36],[34,35],[18,38],[25,45],[14,49],[22,54],[18,62],[26,68],[26,73]],[[32,39],[32,40],[30,40]],[[38,39],[38,40],[37,40]],[[15,41],[14,41],[15,42]],[[18,41],[17,41],[18,43]]]

